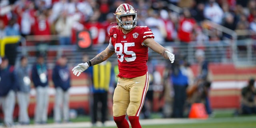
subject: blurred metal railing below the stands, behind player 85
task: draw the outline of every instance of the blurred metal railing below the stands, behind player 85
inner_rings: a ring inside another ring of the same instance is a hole
[[[256,50],[252,46],[255,40],[248,38],[246,40],[236,40],[235,42],[237,45],[234,45],[234,43],[232,43],[230,40],[204,42],[203,49],[205,51],[205,58],[211,63],[233,63],[236,64],[236,66],[256,65]],[[87,54],[89,58],[93,58],[98,53],[98,50],[106,48],[107,46],[108,44],[103,44],[102,46],[92,46],[92,49],[90,50],[80,50],[77,45],[19,46],[18,56],[28,55],[29,64],[33,64],[36,61],[36,54],[31,53],[38,52],[39,50],[45,50],[47,53],[55,53],[54,55],[48,54],[46,58],[49,68],[54,66],[56,58],[62,54],[67,56],[69,60],[68,64],[70,66],[74,66],[82,62],[83,54]],[[187,61],[190,64],[196,63],[195,52],[198,49],[197,42],[190,42],[188,46],[179,45],[177,42],[166,42],[163,44],[163,46],[171,47],[174,49],[174,51],[176,51],[176,54],[180,54],[180,51],[184,51],[184,54],[187,55]],[[236,48],[234,48],[234,46]],[[202,46],[200,48],[202,48]],[[151,56],[151,58],[156,60],[158,63],[166,62],[160,54],[157,54],[151,49],[149,49],[149,56]],[[116,55],[113,55],[108,60],[116,63]]]

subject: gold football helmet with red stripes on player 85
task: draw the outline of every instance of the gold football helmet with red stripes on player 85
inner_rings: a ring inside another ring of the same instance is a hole
[[[130,30],[137,25],[137,11],[130,4],[121,4],[116,9],[116,21],[118,26],[124,28],[125,30]],[[122,21],[122,16],[132,15],[132,21]]]

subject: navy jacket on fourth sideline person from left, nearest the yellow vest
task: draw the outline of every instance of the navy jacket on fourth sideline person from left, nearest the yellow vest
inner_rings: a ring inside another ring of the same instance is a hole
[[[62,90],[66,91],[70,88],[70,70],[68,66],[56,66],[52,70],[52,81],[54,87],[60,87]]]

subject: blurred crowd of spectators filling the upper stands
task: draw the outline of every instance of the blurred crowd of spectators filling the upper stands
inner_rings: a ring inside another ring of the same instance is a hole
[[[108,43],[120,3],[134,6],[138,25],[152,28],[160,44],[178,40],[202,45],[204,40],[231,38],[217,30],[204,35],[206,19],[231,30],[256,32],[255,0],[1,0],[0,38],[57,34],[59,44],[74,44],[76,31],[89,30],[94,44]],[[179,6],[180,13],[170,4]]]

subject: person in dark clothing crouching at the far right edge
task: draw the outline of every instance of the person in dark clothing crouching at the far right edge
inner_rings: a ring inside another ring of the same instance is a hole
[[[242,113],[241,114],[256,114],[256,89],[254,87],[255,79],[251,78],[248,85],[242,88]]]

